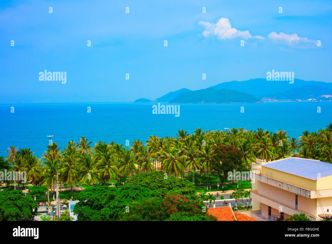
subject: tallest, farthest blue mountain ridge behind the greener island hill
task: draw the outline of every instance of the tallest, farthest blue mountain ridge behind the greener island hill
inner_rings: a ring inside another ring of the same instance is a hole
[[[294,83],[290,84],[289,81],[267,81],[266,78],[257,78],[246,81],[223,82],[208,88],[213,88],[216,90],[226,88],[239,92],[246,92],[258,97],[266,97],[267,94],[282,93],[286,92],[291,88],[306,85],[317,85],[332,89],[332,83],[294,79]]]

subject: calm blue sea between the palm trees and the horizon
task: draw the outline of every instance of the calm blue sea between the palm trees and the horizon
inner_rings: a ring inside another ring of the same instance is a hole
[[[68,140],[115,141],[125,144],[134,139],[146,141],[150,135],[175,136],[177,130],[189,133],[245,127],[276,131],[285,129],[291,137],[303,130],[315,131],[332,122],[332,102],[274,102],[248,104],[181,104],[180,116],[154,115],[155,103],[23,104],[0,105],[0,156],[9,146],[30,147],[41,156],[53,135],[61,149]],[[14,106],[15,113],[10,113]],[[87,113],[87,107],[91,113]],[[240,107],[244,113],[240,113]],[[321,113],[317,113],[317,107]]]

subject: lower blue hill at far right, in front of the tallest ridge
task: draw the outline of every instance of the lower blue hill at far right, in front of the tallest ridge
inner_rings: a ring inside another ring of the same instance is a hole
[[[317,85],[306,85],[302,87],[294,87],[282,93],[273,93],[268,97],[285,98],[285,99],[314,99],[321,98],[322,95],[332,95],[332,89]]]

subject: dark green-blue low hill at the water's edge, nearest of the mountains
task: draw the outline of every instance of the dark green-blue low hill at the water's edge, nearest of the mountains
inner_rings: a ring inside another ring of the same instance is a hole
[[[244,92],[235,90],[212,88],[183,92],[170,103],[253,103],[260,101],[258,98]]]

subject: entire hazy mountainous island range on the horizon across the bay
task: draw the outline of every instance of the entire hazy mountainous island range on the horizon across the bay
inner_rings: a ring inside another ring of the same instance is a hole
[[[277,101],[331,101],[332,83],[294,79],[267,81],[257,78],[246,81],[222,82],[206,89],[192,91],[187,88],[169,92],[150,100],[140,98],[135,103],[255,103]]]

